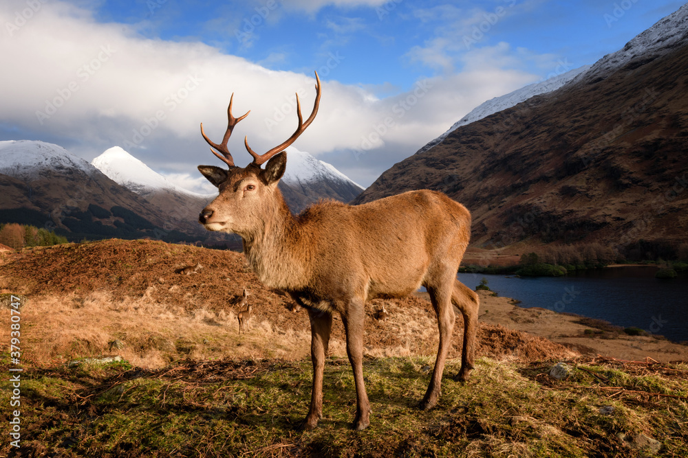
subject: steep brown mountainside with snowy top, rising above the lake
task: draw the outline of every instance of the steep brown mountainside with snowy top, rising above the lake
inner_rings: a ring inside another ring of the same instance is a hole
[[[472,211],[474,246],[675,254],[688,231],[687,16],[685,5],[561,89],[454,130],[355,203],[431,188]]]

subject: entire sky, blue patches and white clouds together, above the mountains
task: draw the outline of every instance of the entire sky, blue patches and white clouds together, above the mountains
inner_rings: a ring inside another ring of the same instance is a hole
[[[7,0],[0,55],[13,65],[0,74],[10,88],[0,140],[52,141],[88,160],[124,146],[200,190],[195,165],[213,158],[198,124],[221,137],[235,92],[237,113],[252,110],[237,137],[248,135],[259,148],[279,144],[295,124],[290,97],[298,91],[310,106],[318,70],[321,113],[294,146],[369,185],[478,104],[592,64],[681,5]],[[384,128],[419,88],[424,97]],[[184,97],[174,102],[175,94]],[[37,114],[55,100],[54,114]],[[240,140],[235,157],[248,157]]]

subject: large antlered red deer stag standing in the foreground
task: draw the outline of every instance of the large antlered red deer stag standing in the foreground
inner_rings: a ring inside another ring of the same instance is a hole
[[[257,154],[246,168],[234,165],[227,141],[237,122],[248,115],[232,115],[221,144],[201,134],[215,156],[229,170],[199,165],[198,170],[219,188],[219,196],[201,211],[199,220],[211,231],[239,234],[244,255],[257,277],[268,288],[286,291],[308,310],[311,326],[313,388],[304,427],[314,428],[323,411],[323,367],[330,340],[332,315],[341,316],[349,361],[356,385],[356,416],[352,427],[369,425],[370,405],[363,382],[363,319],[365,301],[374,297],[403,297],[427,288],[437,314],[440,345],[435,369],[420,409],[430,409],[440,396],[444,360],[454,328],[453,305],[464,319],[461,369],[466,380],[473,369],[477,328],[477,295],[456,279],[469,244],[471,214],[460,203],[439,192],[411,191],[364,205],[323,202],[299,216],[289,211],[277,183],[284,174],[283,150],[315,118],[321,96],[316,73],[313,111],[303,122],[297,94],[299,125],[283,144]],[[250,113],[250,112],[249,112]],[[222,156],[217,152],[221,152]],[[261,164],[266,163],[265,168]]]

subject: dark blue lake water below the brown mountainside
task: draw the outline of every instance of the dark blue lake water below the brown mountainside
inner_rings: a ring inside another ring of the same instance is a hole
[[[657,279],[656,267],[618,267],[575,272],[564,277],[506,278],[460,273],[475,289],[485,277],[500,296],[542,307],[634,326],[672,341],[688,341],[688,275]]]

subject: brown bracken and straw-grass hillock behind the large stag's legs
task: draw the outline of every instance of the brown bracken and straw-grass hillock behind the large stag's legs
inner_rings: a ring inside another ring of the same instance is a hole
[[[139,358],[139,364],[151,365],[185,355],[208,358],[227,356],[227,352],[234,356],[310,354],[310,323],[305,310],[288,310],[292,301],[262,286],[240,253],[152,240],[113,239],[3,253],[0,262],[0,293],[21,294],[27,300],[23,322],[36,327],[33,332],[39,334],[32,340],[43,345],[42,350],[35,350],[43,356],[36,358],[75,354],[74,349],[80,349],[82,353],[78,354],[82,356],[83,352],[107,353],[109,341],[114,339],[134,347],[131,351],[135,354],[130,357]],[[175,273],[196,263],[203,266],[198,273]],[[248,299],[255,314],[255,331],[246,345],[237,341],[235,313],[239,310],[234,306],[243,288],[250,290]],[[367,354],[431,356],[437,351],[437,324],[429,301],[420,297],[385,300],[390,317],[376,321],[373,315],[381,302],[376,299],[366,306]],[[452,358],[460,356],[461,328],[458,318]],[[180,337],[189,333],[193,338]],[[219,339],[224,343],[204,348],[189,342],[193,339]],[[294,345],[299,346],[298,352],[285,353],[278,348],[287,345],[289,339],[297,342]],[[332,339],[333,354],[345,356],[338,318]],[[160,341],[175,343],[165,346]],[[151,363],[147,352],[153,350],[155,358]],[[167,356],[160,356],[161,351]],[[526,361],[575,354],[533,334],[487,324],[480,327],[477,352]]]

